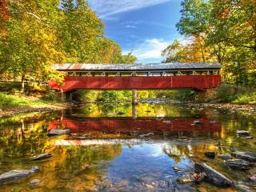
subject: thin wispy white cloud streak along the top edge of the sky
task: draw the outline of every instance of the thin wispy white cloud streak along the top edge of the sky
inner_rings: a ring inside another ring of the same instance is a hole
[[[89,0],[90,7],[95,10],[101,18],[158,5],[162,2],[170,2],[170,0]]]

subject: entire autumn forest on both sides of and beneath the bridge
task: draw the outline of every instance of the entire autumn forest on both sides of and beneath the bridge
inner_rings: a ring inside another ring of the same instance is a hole
[[[162,50],[163,62],[219,62],[223,85],[205,99],[256,103],[256,2],[182,0],[181,5],[176,28],[189,41],[174,40]],[[0,0],[0,98],[40,93],[43,99],[58,100],[46,86],[66,75],[52,70],[56,63],[136,62],[132,52],[122,54],[106,38],[104,28],[84,0]],[[123,100],[131,93],[79,91],[77,96],[81,101]],[[148,90],[138,97],[194,100],[198,94]]]

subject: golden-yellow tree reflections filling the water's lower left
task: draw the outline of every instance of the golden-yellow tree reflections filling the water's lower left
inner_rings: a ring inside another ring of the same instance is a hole
[[[122,153],[121,145],[54,146],[56,140],[66,136],[49,138],[43,127],[44,121],[30,124],[21,121],[18,127],[1,129],[0,162],[10,163],[7,167],[0,167],[2,170],[13,170],[31,165],[41,166],[42,170],[32,178],[41,178],[44,190],[90,190],[96,182],[102,181],[110,161]],[[52,153],[52,158],[39,162],[28,161],[30,156],[44,152]],[[85,164],[90,164],[90,168],[85,169]],[[26,182],[17,185],[29,190]],[[11,191],[13,187],[15,184],[4,185],[2,190]]]

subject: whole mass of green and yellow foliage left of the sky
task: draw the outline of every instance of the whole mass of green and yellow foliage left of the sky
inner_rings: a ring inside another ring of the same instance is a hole
[[[57,63],[135,60],[105,38],[102,20],[84,0],[0,0],[1,74],[46,84],[62,82],[65,74],[51,69]]]

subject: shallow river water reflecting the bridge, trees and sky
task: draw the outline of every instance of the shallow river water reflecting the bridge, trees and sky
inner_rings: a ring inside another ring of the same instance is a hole
[[[118,114],[118,112],[124,114]],[[193,125],[200,120],[202,125]],[[49,137],[53,129],[70,129]],[[254,139],[236,135],[249,130]],[[194,162],[206,162],[228,178],[249,185],[248,172],[228,169],[207,150],[256,152],[256,117],[225,110],[194,109],[174,104],[90,104],[77,109],[0,118],[0,174],[40,166],[28,178],[0,183],[0,191],[238,191],[209,183],[178,185],[193,172]],[[30,161],[34,154],[52,158]],[[85,168],[86,165],[90,168]],[[175,172],[173,166],[182,169]],[[34,178],[38,186],[29,186]],[[254,186],[251,186],[255,190]]]

